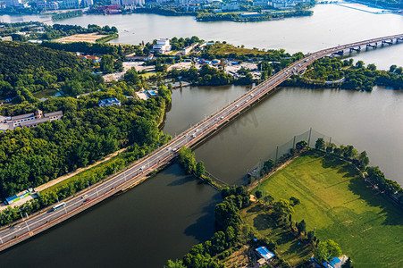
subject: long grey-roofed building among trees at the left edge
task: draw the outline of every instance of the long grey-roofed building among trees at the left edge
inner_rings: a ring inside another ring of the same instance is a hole
[[[46,121],[61,121],[62,117],[62,111],[43,113],[41,110],[16,116],[0,116],[0,131],[15,130],[16,128],[35,128],[38,124]]]

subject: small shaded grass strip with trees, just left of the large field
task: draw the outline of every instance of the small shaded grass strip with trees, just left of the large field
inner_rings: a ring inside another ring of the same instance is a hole
[[[243,209],[241,215],[242,219],[262,236],[276,242],[277,253],[290,264],[299,264],[311,257],[312,250],[307,243],[292,235],[289,226],[279,224],[275,217],[264,212],[263,205],[253,205]]]

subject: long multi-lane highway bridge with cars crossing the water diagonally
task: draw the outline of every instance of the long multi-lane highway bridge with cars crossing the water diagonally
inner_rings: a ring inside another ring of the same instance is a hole
[[[268,80],[259,84],[256,88],[248,91],[247,94],[240,96],[230,105],[222,108],[221,111],[214,113],[204,121],[184,131],[176,138],[173,138],[163,147],[159,147],[155,152],[145,156],[138,162],[131,164],[126,170],[115,174],[111,179],[97,183],[86,190],[81,191],[74,197],[69,197],[64,201],[60,209],[53,211],[49,208],[38,214],[33,214],[12,226],[4,227],[0,230],[0,250],[12,247],[25,239],[40,233],[43,230],[55,226],[72,216],[96,205],[114,194],[129,188],[133,184],[147,179],[147,174],[155,169],[163,167],[170,163],[178,155],[178,150],[182,146],[195,147],[202,140],[206,139],[215,131],[219,130],[228,121],[247,110],[251,105],[256,104],[264,96],[273,93],[276,87],[284,80],[288,80],[292,75],[306,71],[306,67],[314,63],[315,60],[326,55],[341,54],[342,51],[351,48],[361,49],[362,46],[377,47],[378,44],[393,44],[403,40],[403,34],[373,38],[343,46],[334,46],[331,48],[317,51],[313,54],[307,54],[306,57],[298,62],[292,63],[288,68],[274,74]]]

